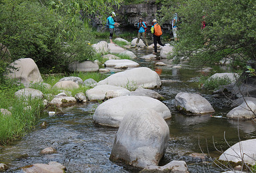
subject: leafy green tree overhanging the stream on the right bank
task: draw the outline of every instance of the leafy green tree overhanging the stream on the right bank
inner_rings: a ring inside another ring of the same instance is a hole
[[[174,13],[181,19],[174,56],[189,57],[197,65],[223,58],[255,63],[256,1],[165,0],[162,3],[159,15],[162,22],[170,22]],[[206,27],[201,30],[202,21]]]

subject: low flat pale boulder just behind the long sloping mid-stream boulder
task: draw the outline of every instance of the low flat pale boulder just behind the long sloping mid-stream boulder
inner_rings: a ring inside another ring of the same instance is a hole
[[[129,59],[111,59],[105,62],[106,67],[125,66],[127,68],[139,67],[139,64]]]

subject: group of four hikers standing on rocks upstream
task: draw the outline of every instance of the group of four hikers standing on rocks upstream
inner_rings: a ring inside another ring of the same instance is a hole
[[[107,18],[107,25],[109,26],[109,40],[110,43],[113,43],[112,39],[113,39],[113,33],[114,33],[114,29],[115,26],[118,26],[119,23],[114,21],[114,17],[116,17],[115,12],[112,12],[111,15]],[[175,41],[177,41],[177,13],[175,13],[175,17],[172,20],[172,28],[173,28],[173,37],[175,39]],[[148,42],[147,42],[147,37],[146,37],[146,31],[147,31],[147,24],[145,23],[145,21],[143,21],[142,18],[139,18],[139,22],[137,24],[137,28],[139,29],[138,31],[138,36],[137,36],[137,41],[136,41],[136,45],[135,47],[139,44],[139,40],[141,39],[142,36],[142,40],[145,43],[145,46],[148,47]],[[161,46],[164,46],[163,43],[161,43],[161,35],[162,35],[162,30],[161,27],[159,25],[159,23],[157,23],[157,19],[153,19],[152,21],[152,27],[151,27],[151,33],[153,34],[153,43],[154,43],[154,52],[153,54],[157,54],[157,43]]]

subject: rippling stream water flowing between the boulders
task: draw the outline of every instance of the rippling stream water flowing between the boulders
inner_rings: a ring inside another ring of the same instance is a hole
[[[137,57],[150,54],[151,51],[135,50]],[[141,67],[155,70],[157,61],[137,61]],[[159,67],[160,68],[160,67]],[[216,71],[226,71],[214,67]],[[167,120],[170,139],[164,158],[160,164],[171,160],[187,162],[189,172],[221,172],[221,169],[211,164],[210,158],[220,156],[218,150],[226,150],[230,145],[241,140],[255,138],[256,125],[251,121],[229,120],[216,118],[225,115],[231,109],[227,106],[227,98],[216,98],[211,92],[199,89],[198,69],[184,67],[171,69],[161,67],[161,80],[173,80],[173,83],[163,83],[155,91],[162,94],[163,102],[172,112]],[[215,114],[201,116],[186,116],[174,108],[174,98],[179,92],[201,93],[215,108]],[[67,168],[67,172],[139,172],[138,169],[109,160],[115,134],[118,128],[99,126],[93,123],[93,111],[99,103],[89,102],[69,108],[62,108],[64,114],[45,116],[41,118],[29,134],[11,146],[0,148],[0,162],[9,166],[7,172],[21,172],[22,166],[35,163],[48,164],[57,161]],[[41,122],[47,122],[47,128],[41,128]],[[224,136],[225,135],[225,136]],[[226,141],[227,142],[226,142]],[[213,141],[214,144],[213,145]],[[57,149],[56,154],[41,155],[44,148]],[[216,148],[215,148],[216,147]],[[191,156],[192,153],[208,154],[208,159],[202,160]]]

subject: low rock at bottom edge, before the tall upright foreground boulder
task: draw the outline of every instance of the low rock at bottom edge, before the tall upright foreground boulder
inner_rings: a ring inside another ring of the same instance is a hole
[[[183,160],[173,160],[169,162],[168,164],[165,164],[164,166],[147,166],[143,170],[141,170],[140,173],[142,172],[177,172],[177,173],[189,173],[187,171],[187,164]]]

